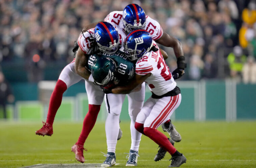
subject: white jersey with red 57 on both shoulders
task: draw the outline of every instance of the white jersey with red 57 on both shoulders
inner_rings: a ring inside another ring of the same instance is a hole
[[[110,12],[104,19],[105,22],[109,22],[111,25],[123,29],[123,11],[113,11]],[[163,29],[160,24],[154,19],[146,15],[146,26],[144,28],[147,30],[153,40],[159,39],[163,34]]]

